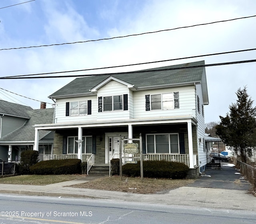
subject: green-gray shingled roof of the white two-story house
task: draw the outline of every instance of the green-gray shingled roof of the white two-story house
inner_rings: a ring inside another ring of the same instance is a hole
[[[135,88],[146,88],[154,86],[166,86],[183,83],[200,82],[202,80],[202,74],[204,67],[199,68],[184,68],[177,70],[162,70],[172,69],[186,66],[202,66],[204,61],[190,62],[186,64],[165,66],[160,68],[152,68],[147,70],[140,70],[135,72],[128,72],[126,74],[106,74],[102,76],[90,76],[83,78],[76,78],[60,90],[54,92],[49,98],[59,98],[64,96],[74,96],[81,94],[89,94],[90,90],[112,76],[118,78],[124,82],[134,85]],[[160,70],[160,71],[156,71]],[[143,71],[143,72],[141,72]]]

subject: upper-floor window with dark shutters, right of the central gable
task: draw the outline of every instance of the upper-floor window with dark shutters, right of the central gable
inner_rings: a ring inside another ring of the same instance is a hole
[[[146,110],[168,110],[168,109],[178,109],[179,108],[179,93],[163,93],[146,95]]]

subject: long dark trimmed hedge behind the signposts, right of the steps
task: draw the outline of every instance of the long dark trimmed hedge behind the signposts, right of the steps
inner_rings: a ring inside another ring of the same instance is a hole
[[[137,164],[122,166],[125,176],[140,176],[140,161]],[[188,166],[179,162],[168,161],[143,161],[143,176],[147,178],[184,179],[188,174]]]

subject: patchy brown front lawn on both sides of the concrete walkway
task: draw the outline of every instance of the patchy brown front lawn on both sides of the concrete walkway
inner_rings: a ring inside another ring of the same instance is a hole
[[[76,178],[86,177],[85,175],[21,175],[0,178],[0,184],[25,184],[25,185],[47,185]],[[75,184],[69,187],[88,188],[96,190],[110,190],[120,192],[131,192],[139,194],[161,194],[175,188],[187,186],[193,183],[192,179],[172,180],[172,179],[154,179],[144,178],[143,182],[140,178],[126,178],[122,180],[118,176],[99,177],[95,180],[82,184]]]

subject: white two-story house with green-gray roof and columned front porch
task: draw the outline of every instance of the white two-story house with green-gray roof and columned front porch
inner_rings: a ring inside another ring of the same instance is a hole
[[[204,61],[76,78],[49,98],[54,123],[34,127],[36,150],[39,130],[54,131],[51,158],[108,164],[120,138],[141,134],[145,160],[184,162],[201,172],[206,166]]]

